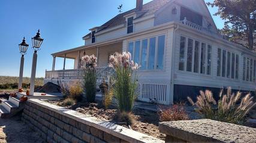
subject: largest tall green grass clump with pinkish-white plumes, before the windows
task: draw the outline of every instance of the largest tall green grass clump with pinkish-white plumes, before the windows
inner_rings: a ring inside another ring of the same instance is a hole
[[[114,67],[116,73],[113,77],[115,80],[113,93],[118,101],[118,108],[121,112],[130,112],[136,97],[138,64],[134,64],[129,52],[122,54],[116,52],[114,55],[110,55],[109,61],[109,66]]]

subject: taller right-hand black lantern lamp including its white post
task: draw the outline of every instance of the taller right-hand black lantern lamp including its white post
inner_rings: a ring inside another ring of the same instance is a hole
[[[40,37],[40,30],[38,30],[37,35],[32,38],[32,46],[34,49],[33,60],[32,60],[32,70],[30,78],[30,91],[29,95],[34,95],[35,90],[35,71],[37,70],[37,51],[40,49],[41,44],[44,39]]]

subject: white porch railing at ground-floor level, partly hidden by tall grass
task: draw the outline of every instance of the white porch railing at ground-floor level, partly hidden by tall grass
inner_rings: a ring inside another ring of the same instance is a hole
[[[107,67],[97,67],[96,72],[99,76],[104,76],[104,74],[110,70]],[[46,79],[82,79],[85,75],[85,69],[71,69],[71,70],[54,70],[46,71]],[[103,75],[102,75],[103,73]]]

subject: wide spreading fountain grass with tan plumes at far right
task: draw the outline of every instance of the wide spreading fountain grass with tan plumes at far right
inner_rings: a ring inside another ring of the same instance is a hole
[[[219,93],[219,101],[216,102],[211,91],[200,91],[197,102],[188,97],[189,102],[195,105],[196,111],[207,119],[218,120],[221,122],[242,124],[246,114],[256,103],[251,94],[246,94],[241,98],[241,92],[231,93],[231,88],[227,89],[227,94],[223,91]]]

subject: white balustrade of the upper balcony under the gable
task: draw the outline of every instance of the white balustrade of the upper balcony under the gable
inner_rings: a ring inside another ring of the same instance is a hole
[[[188,27],[191,27],[192,29],[197,29],[200,32],[206,33],[208,35],[212,35],[215,36],[216,38],[223,38],[223,36],[221,34],[219,34],[218,32],[214,32],[213,30],[210,30],[206,27],[202,27],[198,24],[192,23],[191,21],[186,20],[186,18],[182,21],[180,21],[181,24],[184,24]]]

